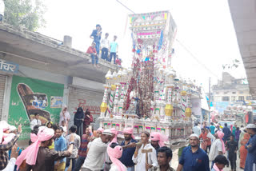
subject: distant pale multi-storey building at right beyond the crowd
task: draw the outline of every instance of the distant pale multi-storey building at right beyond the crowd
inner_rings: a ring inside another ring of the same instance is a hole
[[[217,85],[212,86],[213,99],[215,109],[223,112],[227,105],[241,101],[246,104],[250,101],[250,89],[246,78],[234,78],[229,73],[222,73],[222,80],[218,80]]]

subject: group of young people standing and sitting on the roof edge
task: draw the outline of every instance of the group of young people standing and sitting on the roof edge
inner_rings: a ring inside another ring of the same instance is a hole
[[[99,24],[96,25],[96,29],[93,30],[92,34],[90,34],[90,38],[94,39],[91,46],[87,50],[87,54],[90,54],[91,62],[93,66],[98,66],[98,58],[101,52],[101,58],[106,60],[107,62],[112,62],[112,58],[114,60],[114,64],[121,66],[122,59],[118,58],[118,42],[117,36],[114,35],[113,41],[110,42],[108,39],[109,34],[105,34],[105,38],[102,38],[102,26]]]

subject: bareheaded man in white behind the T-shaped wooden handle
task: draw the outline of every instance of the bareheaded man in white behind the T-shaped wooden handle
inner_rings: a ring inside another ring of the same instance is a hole
[[[154,147],[149,143],[150,133],[144,131],[141,135],[142,145],[138,145],[134,152],[133,161],[136,164],[136,170],[139,171],[151,171],[154,167],[158,166],[157,153]],[[148,153],[148,169],[146,169],[146,153],[142,153],[142,149],[152,149],[152,152]]]

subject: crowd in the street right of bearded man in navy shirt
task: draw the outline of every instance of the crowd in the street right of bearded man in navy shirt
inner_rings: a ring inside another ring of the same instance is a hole
[[[232,171],[237,170],[237,158],[240,158],[239,168],[252,171],[256,169],[256,125],[248,124],[246,128],[241,125],[241,129],[236,125],[214,125],[202,123],[199,126],[195,123],[194,135],[200,140],[200,147],[208,153],[209,160],[214,166],[214,161],[218,155],[227,154],[226,166]],[[223,160],[224,161],[224,160]],[[254,168],[254,169],[253,169]]]

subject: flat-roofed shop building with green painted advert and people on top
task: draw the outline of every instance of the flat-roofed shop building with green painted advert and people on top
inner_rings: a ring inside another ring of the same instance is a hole
[[[34,113],[43,123],[58,122],[62,104],[68,105],[70,125],[78,107],[89,108],[95,120],[99,116],[106,72],[118,66],[99,59],[95,68],[88,54],[71,46],[67,36],[62,42],[0,24],[0,118],[23,124],[20,139],[30,136]]]

